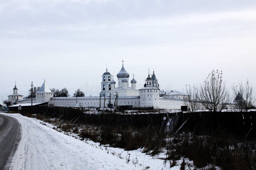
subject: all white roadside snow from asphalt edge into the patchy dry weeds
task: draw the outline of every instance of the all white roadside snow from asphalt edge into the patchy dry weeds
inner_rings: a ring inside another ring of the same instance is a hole
[[[164,165],[164,153],[151,157],[142,149],[124,151],[93,141],[81,141],[73,134],[56,131],[54,125],[20,114],[5,114],[16,118],[21,127],[21,141],[10,169],[170,169]],[[71,135],[71,134],[69,134]],[[130,155],[129,155],[130,154]],[[127,159],[130,159],[127,164]],[[180,164],[181,162],[179,162]],[[171,170],[180,169],[174,166]]]

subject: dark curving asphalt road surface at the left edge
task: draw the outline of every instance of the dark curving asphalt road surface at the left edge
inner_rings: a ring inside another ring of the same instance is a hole
[[[12,117],[0,114],[0,169],[8,169],[20,141],[20,124]]]

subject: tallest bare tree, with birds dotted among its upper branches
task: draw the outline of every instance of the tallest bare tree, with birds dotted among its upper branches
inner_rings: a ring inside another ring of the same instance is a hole
[[[222,81],[222,71],[214,71],[208,74],[203,83],[200,84],[198,100],[210,112],[216,112],[226,107],[228,91],[225,82]]]

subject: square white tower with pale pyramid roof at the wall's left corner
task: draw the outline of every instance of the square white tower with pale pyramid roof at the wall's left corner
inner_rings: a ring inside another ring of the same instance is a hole
[[[49,102],[52,97],[53,92],[44,80],[44,83],[42,84],[41,88],[36,92],[36,103]]]

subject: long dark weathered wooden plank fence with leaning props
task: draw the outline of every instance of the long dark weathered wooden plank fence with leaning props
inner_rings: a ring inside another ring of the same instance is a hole
[[[215,133],[225,131],[237,135],[255,135],[256,112],[196,112],[196,113],[151,113],[151,114],[85,114],[80,110],[49,107],[30,107],[23,112],[39,113],[48,118],[60,118],[71,123],[126,124],[137,127],[167,127],[171,133]],[[166,120],[163,118],[166,117]]]

